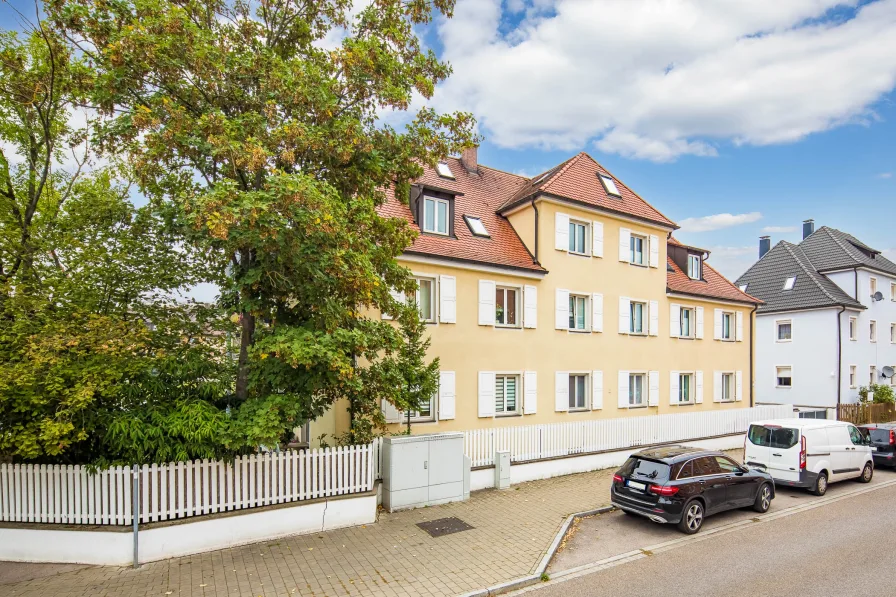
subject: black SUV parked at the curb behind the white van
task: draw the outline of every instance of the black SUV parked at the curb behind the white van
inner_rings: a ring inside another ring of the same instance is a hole
[[[774,497],[768,473],[721,452],[684,446],[633,454],[613,475],[610,487],[610,501],[619,510],[677,524],[689,535],[718,512],[745,506],[767,512]]]

